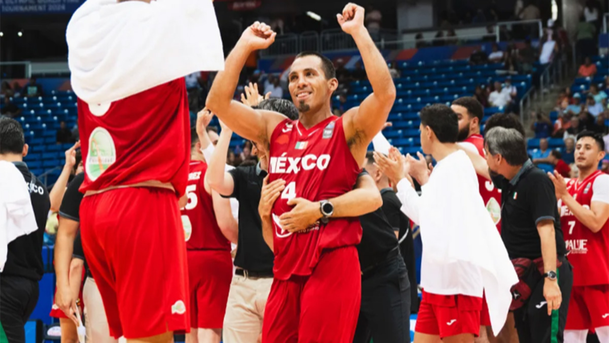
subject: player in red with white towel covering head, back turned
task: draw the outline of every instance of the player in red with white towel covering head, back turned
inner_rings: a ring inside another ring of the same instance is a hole
[[[192,43],[192,32],[205,37]],[[171,342],[191,326],[178,207],[191,144],[184,76],[224,68],[213,4],[87,0],[66,41],[85,167],[82,245],[110,334]]]

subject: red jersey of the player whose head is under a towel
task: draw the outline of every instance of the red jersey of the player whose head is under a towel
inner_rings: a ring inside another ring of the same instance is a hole
[[[78,125],[85,167],[81,192],[156,180],[184,193],[190,123],[183,78],[113,103],[79,98]]]

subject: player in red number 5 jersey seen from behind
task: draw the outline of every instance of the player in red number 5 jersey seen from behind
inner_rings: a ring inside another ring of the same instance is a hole
[[[230,201],[213,192],[207,182],[207,163],[201,141],[211,116],[199,113],[192,139],[186,205],[181,209],[188,279],[190,282],[191,332],[186,343],[219,343],[233,278],[230,242],[237,242],[237,222]]]

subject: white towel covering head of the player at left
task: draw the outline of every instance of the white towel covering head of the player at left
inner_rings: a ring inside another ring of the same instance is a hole
[[[86,103],[224,69],[211,0],[87,0],[72,15],[66,41],[72,88]]]

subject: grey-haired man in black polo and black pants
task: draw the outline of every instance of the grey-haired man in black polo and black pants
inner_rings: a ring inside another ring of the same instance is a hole
[[[486,163],[472,158],[479,175],[501,189],[501,238],[510,259],[543,261],[529,299],[514,311],[521,343],[563,342],[573,273],[567,261],[554,184],[527,156],[516,129],[485,135]],[[527,278],[530,280],[530,278]]]

